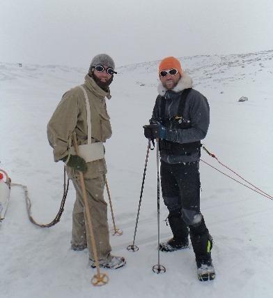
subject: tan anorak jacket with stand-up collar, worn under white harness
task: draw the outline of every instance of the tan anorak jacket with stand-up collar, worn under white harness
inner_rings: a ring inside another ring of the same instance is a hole
[[[98,87],[92,77],[86,75],[82,85],[86,90],[90,110],[92,126],[92,142],[105,142],[111,137],[111,124],[105,96],[110,98],[110,92]],[[56,107],[52,118],[47,124],[47,137],[49,144],[53,147],[54,161],[68,156],[72,144],[72,133],[76,133],[78,144],[87,144],[87,114],[84,92],[75,87],[65,94]],[[85,179],[92,179],[106,174],[107,167],[104,158],[87,163],[88,170],[84,173]],[[77,171],[67,167],[68,177],[78,178]]]

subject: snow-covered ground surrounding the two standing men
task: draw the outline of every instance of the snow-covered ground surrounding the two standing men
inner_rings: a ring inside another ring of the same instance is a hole
[[[220,161],[273,195],[273,50],[228,56],[182,57],[194,86],[209,100],[211,122],[203,141]],[[0,223],[0,297],[273,297],[273,202],[201,163],[201,210],[214,238],[214,281],[196,278],[192,247],[161,253],[157,264],[157,177],[150,152],[136,244],[132,244],[139,204],[148,123],[157,96],[158,61],[118,68],[107,102],[113,136],[106,143],[107,179],[121,237],[111,236],[113,253],[127,265],[102,269],[109,283],[94,287],[88,251],[70,250],[70,187],[65,211],[53,228],[30,223],[22,188],[13,186]],[[54,163],[46,126],[62,94],[84,82],[88,69],[0,63],[0,168],[13,183],[28,186],[33,217],[52,221],[63,193],[63,165]],[[239,103],[241,96],[248,100]],[[205,152],[202,159],[224,170]],[[226,172],[226,170],[225,170]],[[107,193],[105,193],[107,199]],[[161,201],[160,239],[170,237]],[[112,228],[109,212],[109,225]]]

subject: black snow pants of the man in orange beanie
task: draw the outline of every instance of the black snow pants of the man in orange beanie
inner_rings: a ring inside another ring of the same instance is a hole
[[[212,238],[200,211],[199,163],[161,162],[162,196],[169,209],[173,239],[183,241],[190,234],[197,258],[210,258]]]

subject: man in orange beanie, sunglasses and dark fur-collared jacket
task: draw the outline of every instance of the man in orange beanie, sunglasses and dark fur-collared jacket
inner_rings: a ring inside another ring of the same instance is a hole
[[[187,248],[190,236],[198,279],[212,280],[212,237],[200,211],[199,174],[201,140],[208,132],[210,107],[205,96],[192,88],[192,78],[175,57],[160,62],[159,80],[150,125],[143,126],[149,140],[159,139],[162,196],[173,232],[173,238],[162,242],[159,250]]]

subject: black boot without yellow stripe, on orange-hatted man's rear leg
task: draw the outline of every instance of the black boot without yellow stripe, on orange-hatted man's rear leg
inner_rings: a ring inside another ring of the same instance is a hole
[[[168,216],[169,225],[173,232],[173,238],[159,244],[160,251],[178,251],[189,247],[189,228],[182,220],[180,212],[170,212]]]

